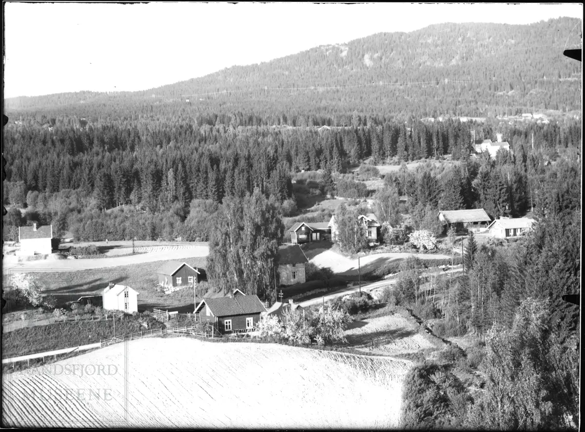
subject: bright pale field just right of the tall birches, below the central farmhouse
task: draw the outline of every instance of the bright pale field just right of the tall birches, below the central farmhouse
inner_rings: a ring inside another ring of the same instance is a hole
[[[448,255],[441,254],[409,254],[409,253],[384,253],[371,254],[360,258],[359,265],[362,269],[362,274],[366,274],[374,269],[381,267],[391,261],[404,260],[410,255],[414,255],[421,260],[446,260],[450,258]],[[319,267],[329,267],[334,273],[338,275],[357,275],[359,273],[357,258],[349,258],[345,255],[337,253],[332,250],[326,250],[318,255],[315,255],[311,262]]]

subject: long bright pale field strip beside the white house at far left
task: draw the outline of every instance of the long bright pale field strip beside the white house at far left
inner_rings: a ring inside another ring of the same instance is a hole
[[[104,243],[105,242],[98,242]],[[113,242],[112,242],[113,243]],[[108,244],[112,247],[111,250],[106,251],[107,253],[113,254],[129,254],[132,253],[132,242],[117,242],[126,244],[125,246],[116,247],[115,245]],[[142,243],[142,242],[141,242]],[[149,242],[157,243],[157,242]],[[92,243],[97,244],[97,243]],[[129,244],[129,247],[128,247]],[[75,246],[83,246],[83,244],[74,244]],[[99,246],[98,246],[99,247]],[[115,252],[114,252],[115,251]],[[160,246],[160,245],[140,245],[137,249],[139,254],[129,255],[124,257],[108,257],[108,258],[87,258],[79,260],[35,260],[35,261],[24,261],[19,262],[18,258],[14,255],[7,255],[2,261],[2,272],[8,273],[9,269],[34,269],[34,270],[81,270],[81,269],[97,269],[105,267],[120,267],[123,265],[141,264],[143,262],[163,261],[163,260],[185,260],[185,258],[193,257],[207,257],[209,254],[209,247],[206,243],[174,243],[172,246]]]

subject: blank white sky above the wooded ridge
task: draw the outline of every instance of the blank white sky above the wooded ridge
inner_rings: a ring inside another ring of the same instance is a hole
[[[146,90],[380,32],[583,18],[583,5],[5,2],[3,15],[11,98]]]

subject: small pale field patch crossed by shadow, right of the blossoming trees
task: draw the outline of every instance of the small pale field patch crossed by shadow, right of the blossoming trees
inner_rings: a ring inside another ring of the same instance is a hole
[[[355,321],[345,331],[350,347],[387,355],[410,354],[436,348],[418,333],[414,319],[394,314]]]

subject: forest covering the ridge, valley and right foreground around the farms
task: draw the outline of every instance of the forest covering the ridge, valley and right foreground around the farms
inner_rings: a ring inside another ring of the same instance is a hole
[[[209,241],[211,279],[225,290],[246,281],[246,292],[269,298],[303,175],[322,196],[373,199],[380,223],[408,214],[404,229],[437,236],[439,210],[529,213],[536,227],[518,241],[466,239],[466,272],[438,288],[448,304],[397,285],[395,302],[441,317],[443,336],[482,341],[476,363],[453,355],[487,377],[472,398],[449,369],[417,365],[402,421],[573,430],[579,306],[561,296],[580,293],[582,80],[560,35],[578,21],[436,25],[143,92],[9,99],[4,240],[36,222],[76,241]],[[522,113],[548,120],[512,118]],[[474,139],[498,138],[510,153],[474,154]],[[380,175],[374,165],[400,169]],[[370,190],[366,178],[383,186]],[[320,216],[311,222],[331,213]],[[234,241],[253,246],[218,253]],[[254,271],[243,265],[254,260]],[[408,265],[401,271],[420,269]]]

